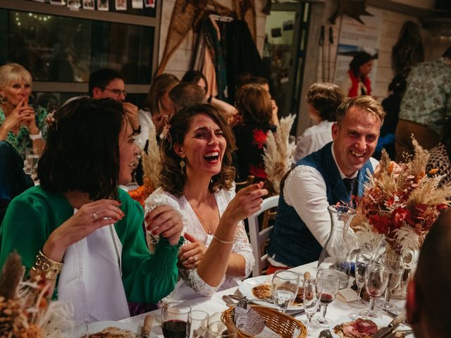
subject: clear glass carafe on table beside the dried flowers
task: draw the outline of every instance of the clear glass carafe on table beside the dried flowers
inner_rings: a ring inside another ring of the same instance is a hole
[[[347,288],[351,273],[350,246],[347,242],[350,222],[356,211],[348,206],[328,206],[330,236],[321,251],[318,269],[333,269],[340,275],[340,289]]]

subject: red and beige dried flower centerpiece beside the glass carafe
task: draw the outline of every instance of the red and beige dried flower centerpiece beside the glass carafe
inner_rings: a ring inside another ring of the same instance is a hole
[[[451,196],[450,185],[438,187],[443,176],[437,170],[426,173],[428,151],[416,139],[412,138],[412,142],[413,158],[400,163],[397,170],[383,151],[381,170],[370,176],[359,201],[359,211],[366,222],[357,229],[362,231],[362,236],[359,231],[357,235],[362,239],[369,237],[369,232],[381,234],[401,256],[421,248],[440,211],[450,205],[447,197]]]

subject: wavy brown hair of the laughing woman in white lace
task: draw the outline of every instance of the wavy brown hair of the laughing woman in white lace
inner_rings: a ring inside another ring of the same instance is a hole
[[[221,172],[211,178],[210,192],[220,189],[231,189],[235,178],[235,168],[232,165],[232,153],[235,151],[235,137],[218,110],[210,104],[190,106],[175,113],[168,122],[166,137],[160,142],[161,171],[159,180],[161,187],[174,196],[182,196],[187,182],[186,170],[180,174],[180,157],[175,154],[173,144],[183,144],[185,136],[190,130],[192,119],[199,114],[208,115],[209,118],[221,128],[227,146],[223,157]]]

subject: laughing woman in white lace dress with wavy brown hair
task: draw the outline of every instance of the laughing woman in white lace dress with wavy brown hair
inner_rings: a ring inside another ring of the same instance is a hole
[[[268,192],[260,183],[235,196],[231,166],[235,139],[213,106],[179,111],[164,134],[161,188],[146,200],[146,210],[152,210],[145,218],[147,229],[183,222],[186,241],[178,264],[185,282],[179,282],[172,297],[189,299],[194,292],[210,296],[251,273],[252,246],[242,220],[259,210],[261,197]],[[174,213],[168,217],[173,209],[177,217]]]

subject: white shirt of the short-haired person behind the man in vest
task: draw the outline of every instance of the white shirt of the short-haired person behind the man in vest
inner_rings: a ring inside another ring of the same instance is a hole
[[[293,163],[297,163],[300,159],[332,142],[332,125],[333,122],[325,120],[304,130],[304,133],[297,138]]]

